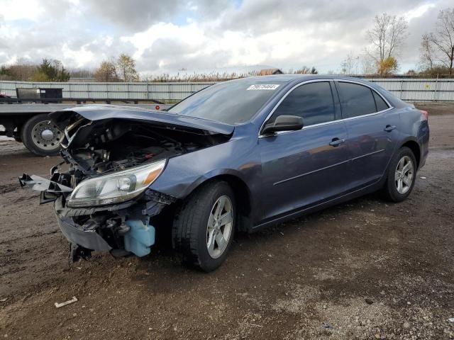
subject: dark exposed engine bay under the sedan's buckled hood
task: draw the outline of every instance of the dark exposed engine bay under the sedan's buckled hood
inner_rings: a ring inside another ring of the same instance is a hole
[[[225,140],[127,120],[101,122],[84,125],[72,136],[65,133],[61,154],[71,164],[73,188],[85,178],[194,152]]]

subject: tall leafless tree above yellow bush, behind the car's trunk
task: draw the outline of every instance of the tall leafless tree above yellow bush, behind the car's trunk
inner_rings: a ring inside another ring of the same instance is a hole
[[[374,28],[367,31],[367,37],[372,45],[372,51],[369,53],[376,62],[382,62],[388,57],[397,57],[408,36],[407,28],[408,23],[403,16],[397,18],[387,13],[375,16]]]

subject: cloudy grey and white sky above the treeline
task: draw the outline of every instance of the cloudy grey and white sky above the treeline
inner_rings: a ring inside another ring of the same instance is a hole
[[[360,55],[375,15],[409,21],[401,71],[416,67],[421,35],[452,0],[0,0],[0,64],[19,58],[96,68],[128,53],[141,74],[178,69],[314,65],[339,71]]]

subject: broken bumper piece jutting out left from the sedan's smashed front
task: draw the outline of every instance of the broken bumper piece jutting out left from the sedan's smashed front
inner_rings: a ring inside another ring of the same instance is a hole
[[[62,193],[72,192],[72,188],[63,186],[55,181],[43,179],[43,177],[23,174],[19,177],[19,183],[21,187],[31,188],[34,191],[40,191],[40,204],[53,202]]]

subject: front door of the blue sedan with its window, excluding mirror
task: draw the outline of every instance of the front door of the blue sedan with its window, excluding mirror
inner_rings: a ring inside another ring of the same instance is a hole
[[[299,115],[304,128],[259,137],[262,223],[338,196],[347,177],[347,130],[331,81],[292,89],[266,123]]]

